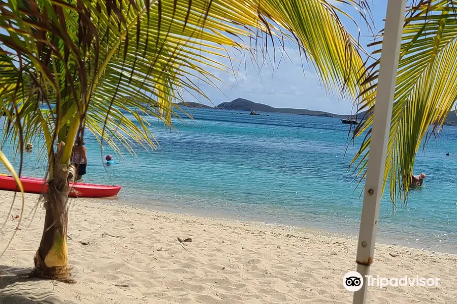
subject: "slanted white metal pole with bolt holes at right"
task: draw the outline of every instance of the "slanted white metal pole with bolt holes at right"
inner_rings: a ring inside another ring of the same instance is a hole
[[[373,263],[405,6],[406,0],[389,0],[387,3],[381,63],[379,66],[378,92],[373,113],[373,130],[365,181],[364,205],[362,207],[360,232],[358,233],[356,263],[357,272],[363,278],[369,274],[370,265]],[[367,285],[365,280],[362,289],[354,293],[353,304],[365,304]]]

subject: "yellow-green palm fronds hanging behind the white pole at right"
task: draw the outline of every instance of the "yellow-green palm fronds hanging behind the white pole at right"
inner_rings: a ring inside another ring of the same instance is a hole
[[[410,17],[405,19],[403,28],[384,170],[384,187],[389,181],[394,208],[398,201],[406,203],[421,142],[441,129],[457,100],[456,7],[455,0],[421,1],[407,12]],[[369,67],[372,68],[369,81],[376,82],[378,66],[379,60]],[[354,131],[354,137],[364,135],[371,128],[375,89],[376,84],[361,101],[359,110],[368,110],[368,115]],[[370,142],[368,134],[352,159],[356,173],[362,179],[366,173]]]

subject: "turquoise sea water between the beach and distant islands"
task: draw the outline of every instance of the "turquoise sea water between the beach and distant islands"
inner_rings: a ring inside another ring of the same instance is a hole
[[[355,189],[347,170],[358,146],[349,144],[343,159],[349,127],[339,119],[188,111],[194,121],[177,120],[176,129],[165,130],[151,119],[160,146],[154,151],[138,148],[135,157],[124,155],[124,161],[109,167],[103,166],[99,146],[87,135],[89,164],[83,180],[122,185],[117,200],[126,204],[358,232],[361,188]],[[34,153],[26,155],[24,176],[44,174],[35,144]],[[425,155],[420,151],[417,156],[415,172],[426,172],[427,178],[422,189],[411,192],[408,210],[393,213],[384,194],[381,238],[442,251],[456,248],[457,158],[446,157],[446,152],[457,155],[457,128],[445,127]],[[105,149],[106,154],[112,151]]]

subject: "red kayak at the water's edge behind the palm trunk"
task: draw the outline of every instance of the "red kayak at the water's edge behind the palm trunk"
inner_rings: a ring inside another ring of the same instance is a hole
[[[48,184],[42,178],[21,177],[24,192],[42,194],[46,192]],[[72,198],[107,198],[119,193],[121,186],[95,185],[83,182],[70,183],[73,187],[69,194]],[[11,175],[0,174],[0,190],[16,191],[17,183]]]

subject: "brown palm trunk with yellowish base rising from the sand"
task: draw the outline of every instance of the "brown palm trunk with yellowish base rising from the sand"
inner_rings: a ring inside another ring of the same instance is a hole
[[[68,194],[69,182],[76,177],[75,166],[62,164],[64,143],[57,145],[54,157],[53,175],[48,181],[44,195],[46,209],[45,224],[40,247],[35,254],[33,275],[62,282],[74,282],[68,265]]]

